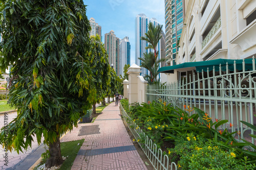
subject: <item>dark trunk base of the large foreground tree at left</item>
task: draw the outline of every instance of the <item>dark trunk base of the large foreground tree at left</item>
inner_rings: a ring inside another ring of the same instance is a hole
[[[49,152],[50,158],[48,158],[46,161],[47,168],[51,168],[52,166],[58,166],[63,163],[60,152],[59,136],[56,138],[55,142],[49,144]]]

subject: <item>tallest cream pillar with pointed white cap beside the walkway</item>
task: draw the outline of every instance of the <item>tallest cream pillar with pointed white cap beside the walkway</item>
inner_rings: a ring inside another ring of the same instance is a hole
[[[135,102],[138,102],[138,78],[140,75],[140,67],[136,64],[133,64],[127,69],[127,74],[129,75],[129,104],[134,106]]]

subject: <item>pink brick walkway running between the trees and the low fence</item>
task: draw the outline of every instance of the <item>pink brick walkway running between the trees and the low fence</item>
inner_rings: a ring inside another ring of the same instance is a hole
[[[86,134],[86,129],[95,134]],[[79,132],[79,130],[81,131]],[[80,135],[80,136],[79,136]],[[121,119],[119,106],[107,106],[92,124],[79,124],[63,141],[85,139],[72,169],[146,169]]]

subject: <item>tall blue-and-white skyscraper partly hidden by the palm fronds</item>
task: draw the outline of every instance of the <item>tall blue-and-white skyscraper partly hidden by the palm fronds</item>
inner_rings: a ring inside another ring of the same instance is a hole
[[[138,14],[135,19],[135,63],[140,66],[141,60],[139,58],[144,58],[143,53],[146,52],[145,47],[147,42],[140,40],[140,37],[145,36],[147,32],[147,24],[149,18],[145,14]],[[141,68],[141,76],[147,75],[147,69]]]

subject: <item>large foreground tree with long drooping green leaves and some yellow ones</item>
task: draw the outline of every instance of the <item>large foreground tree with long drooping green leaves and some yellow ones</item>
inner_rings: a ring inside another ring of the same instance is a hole
[[[9,0],[0,14],[0,63],[2,70],[12,64],[9,102],[18,114],[8,136],[2,129],[0,143],[7,140],[8,150],[19,152],[31,147],[33,136],[38,144],[44,136],[47,167],[58,165],[60,150],[53,152],[59,136],[77,125],[95,97],[86,6],[79,0]]]

